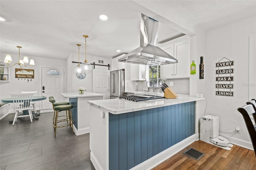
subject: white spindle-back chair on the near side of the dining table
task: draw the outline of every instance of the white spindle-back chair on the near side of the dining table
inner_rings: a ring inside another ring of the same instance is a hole
[[[13,119],[12,125],[17,121],[19,117],[30,117],[30,121],[32,122],[33,116],[32,111],[30,109],[30,103],[32,101],[33,94],[11,94],[12,101],[14,103],[15,115]],[[18,115],[19,112],[23,112],[28,110],[28,115],[24,115],[23,113]]]

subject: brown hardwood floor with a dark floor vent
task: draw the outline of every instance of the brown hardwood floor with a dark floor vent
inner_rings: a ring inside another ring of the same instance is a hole
[[[186,156],[182,152],[193,148],[205,155],[200,160]],[[152,170],[256,170],[256,157],[253,150],[234,145],[225,150],[201,140],[184,148]]]

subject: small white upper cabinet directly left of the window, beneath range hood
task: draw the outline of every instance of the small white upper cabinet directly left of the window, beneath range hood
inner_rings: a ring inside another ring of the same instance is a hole
[[[146,81],[146,65],[131,64],[131,80]]]

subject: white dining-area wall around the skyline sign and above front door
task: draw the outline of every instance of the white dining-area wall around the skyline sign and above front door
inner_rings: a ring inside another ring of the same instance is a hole
[[[6,53],[1,53],[1,61],[4,61],[4,57]],[[12,56],[12,64],[18,62],[18,55],[11,54]],[[23,57],[23,56],[22,56]],[[24,79],[15,78],[15,68],[20,68],[19,65],[14,65],[10,67],[10,82],[0,82],[0,99],[10,97],[10,94],[19,94],[20,91],[38,91],[37,95],[41,94],[41,79],[40,79],[40,67],[66,67],[66,61],[61,59],[51,59],[51,58],[43,58],[43,57],[30,57],[29,59],[34,59],[35,65],[32,67],[34,69],[34,79],[32,81],[25,81]],[[36,109],[41,108],[41,102],[37,102]],[[12,108],[12,104],[11,107]]]

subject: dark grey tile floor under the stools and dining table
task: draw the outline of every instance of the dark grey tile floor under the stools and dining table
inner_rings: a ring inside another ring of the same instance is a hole
[[[11,113],[0,121],[1,170],[95,170],[89,134],[76,136],[70,127],[62,127],[54,138],[53,112],[38,117],[32,123],[29,117],[19,118],[12,125]]]

